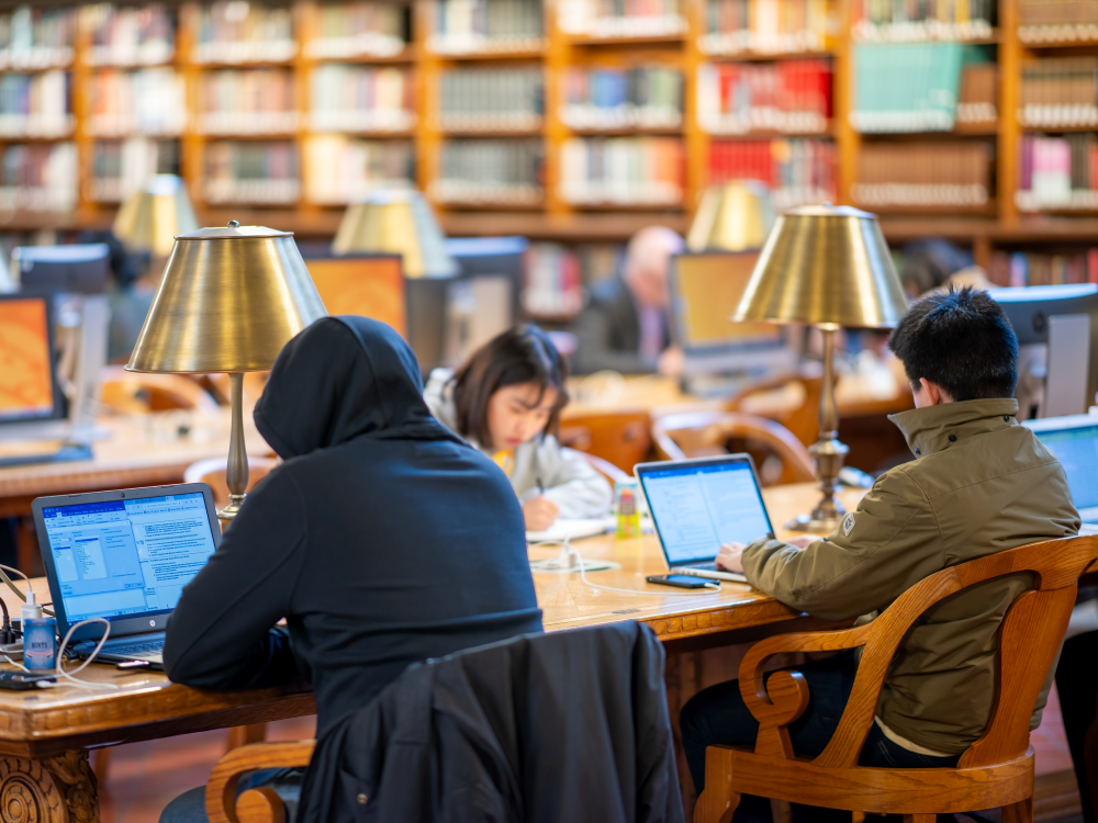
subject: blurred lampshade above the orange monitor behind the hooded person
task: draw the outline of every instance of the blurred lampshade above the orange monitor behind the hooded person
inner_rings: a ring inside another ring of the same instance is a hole
[[[442,229],[423,194],[411,189],[383,189],[347,206],[332,241],[336,255],[385,251],[401,255],[410,278],[449,278],[458,264],[446,253]]]

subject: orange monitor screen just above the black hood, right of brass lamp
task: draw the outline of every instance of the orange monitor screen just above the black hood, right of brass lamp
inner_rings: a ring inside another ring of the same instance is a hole
[[[330,315],[357,314],[388,323],[407,339],[408,317],[400,255],[309,259],[305,267]]]

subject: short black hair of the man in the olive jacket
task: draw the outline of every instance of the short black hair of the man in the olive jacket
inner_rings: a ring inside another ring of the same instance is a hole
[[[888,347],[916,388],[926,379],[956,402],[1015,396],[1018,338],[987,292],[931,293],[907,311]]]

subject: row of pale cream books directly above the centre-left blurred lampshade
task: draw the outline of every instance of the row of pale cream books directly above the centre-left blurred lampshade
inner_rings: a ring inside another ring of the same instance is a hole
[[[373,189],[412,187],[415,181],[410,140],[315,135],[305,140],[305,193],[313,203],[354,203]]]

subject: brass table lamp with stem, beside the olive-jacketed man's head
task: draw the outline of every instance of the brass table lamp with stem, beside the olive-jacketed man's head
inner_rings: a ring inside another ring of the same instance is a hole
[[[824,332],[820,437],[808,448],[824,497],[787,528],[828,533],[844,514],[836,498],[847,447],[834,403],[834,332],[888,328],[907,311],[876,215],[850,206],[802,206],[777,218],[732,315],[733,322],[813,325]]]

